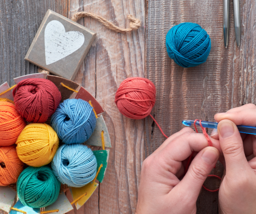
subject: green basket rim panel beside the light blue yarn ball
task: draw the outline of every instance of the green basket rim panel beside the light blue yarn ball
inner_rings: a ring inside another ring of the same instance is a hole
[[[97,160],[97,171],[98,171],[100,165],[102,164],[100,172],[97,176],[97,180],[99,180],[99,182],[102,183],[102,180],[105,176],[106,169],[108,166],[109,150],[95,150],[92,152],[95,155],[96,160]]]

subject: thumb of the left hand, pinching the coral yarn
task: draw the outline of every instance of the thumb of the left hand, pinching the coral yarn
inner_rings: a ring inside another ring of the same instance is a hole
[[[190,192],[191,197],[197,199],[203,183],[217,163],[219,155],[219,151],[212,146],[199,152],[177,188],[184,193]]]

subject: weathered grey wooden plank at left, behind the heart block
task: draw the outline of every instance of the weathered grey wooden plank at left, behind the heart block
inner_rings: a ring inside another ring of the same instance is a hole
[[[0,82],[14,85],[13,78],[36,73],[24,60],[48,9],[67,17],[68,0],[0,0]]]

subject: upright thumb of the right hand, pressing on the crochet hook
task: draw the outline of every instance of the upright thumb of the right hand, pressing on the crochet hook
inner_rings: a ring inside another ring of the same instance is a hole
[[[244,154],[244,147],[241,135],[230,120],[221,120],[218,124],[220,146],[225,157],[227,174],[237,172],[241,167],[248,167]]]

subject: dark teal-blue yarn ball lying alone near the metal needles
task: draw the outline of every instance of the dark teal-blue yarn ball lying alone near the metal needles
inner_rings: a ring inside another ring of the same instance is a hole
[[[169,30],[166,48],[175,63],[190,68],[206,61],[211,51],[211,39],[199,24],[185,22]]]

